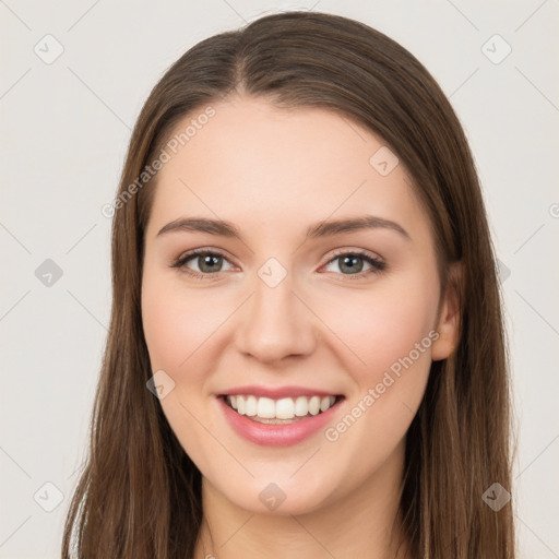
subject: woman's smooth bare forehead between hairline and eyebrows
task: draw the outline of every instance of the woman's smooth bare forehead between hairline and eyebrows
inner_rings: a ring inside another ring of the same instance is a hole
[[[260,231],[299,223],[302,230],[309,222],[364,213],[400,217],[411,229],[427,226],[404,165],[355,121],[251,97],[211,107],[211,118],[197,120],[202,107],[170,134],[182,142],[166,148],[170,158],[157,175],[152,235],[182,215],[218,216]],[[180,136],[187,127],[188,136]]]

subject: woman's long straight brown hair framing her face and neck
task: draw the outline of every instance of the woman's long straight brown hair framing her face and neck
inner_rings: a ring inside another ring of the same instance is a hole
[[[463,276],[459,345],[432,362],[406,437],[405,536],[414,557],[513,558],[511,503],[496,511],[483,499],[493,483],[511,489],[510,394],[496,258],[463,129],[406,49],[362,23],[311,12],[267,15],[202,40],[143,107],[115,204],[110,328],[62,557],[193,556],[201,473],[146,389],[153,371],[140,295],[155,183],[143,173],[179,120],[231,92],[336,111],[380,135],[408,169],[431,219],[442,289],[452,262]]]

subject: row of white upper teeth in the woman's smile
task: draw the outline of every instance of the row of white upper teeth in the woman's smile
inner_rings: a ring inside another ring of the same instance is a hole
[[[295,416],[317,415],[332,407],[335,396],[298,396],[272,400],[253,395],[227,396],[227,402],[240,415],[258,416],[263,419],[293,419]]]

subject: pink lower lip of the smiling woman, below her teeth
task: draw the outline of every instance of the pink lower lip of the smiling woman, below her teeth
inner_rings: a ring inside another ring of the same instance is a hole
[[[264,447],[289,447],[311,437],[331,421],[344,399],[321,414],[284,425],[253,421],[229,407],[223,396],[217,400],[233,429],[245,439]]]

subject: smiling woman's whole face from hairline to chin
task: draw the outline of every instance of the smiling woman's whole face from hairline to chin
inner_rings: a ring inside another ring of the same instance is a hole
[[[253,512],[394,487],[431,360],[453,346],[411,179],[333,112],[212,107],[177,127],[192,124],[162,157],[145,234],[143,326],[170,427],[204,483]]]

